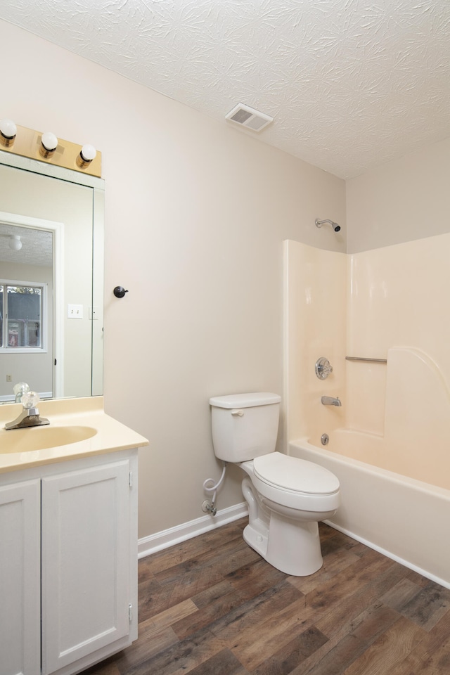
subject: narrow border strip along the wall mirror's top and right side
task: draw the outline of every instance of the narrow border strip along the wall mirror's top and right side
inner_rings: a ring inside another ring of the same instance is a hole
[[[96,321],[92,321],[91,330],[91,396],[103,395],[103,297],[104,297],[104,219],[105,219],[105,181],[97,176],[83,174],[72,169],[51,165],[48,162],[15,155],[11,151],[0,150],[0,165],[23,169],[49,176],[66,183],[92,188],[92,307],[96,308]],[[0,208],[1,210],[1,208]],[[101,349],[95,345],[100,344]],[[101,353],[100,353],[101,352]]]

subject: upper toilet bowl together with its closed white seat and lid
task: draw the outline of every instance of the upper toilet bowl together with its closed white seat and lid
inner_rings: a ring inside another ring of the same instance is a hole
[[[259,494],[281,506],[316,512],[339,506],[339,480],[320,465],[281,452],[245,464],[252,465],[252,483]]]

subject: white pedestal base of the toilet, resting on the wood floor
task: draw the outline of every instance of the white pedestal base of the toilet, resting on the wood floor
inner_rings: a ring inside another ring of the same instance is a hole
[[[263,532],[261,525],[261,521],[249,523],[243,538],[267,563],[292,577],[307,577],[320,570],[323,558],[317,522],[289,521],[272,511],[269,530]]]

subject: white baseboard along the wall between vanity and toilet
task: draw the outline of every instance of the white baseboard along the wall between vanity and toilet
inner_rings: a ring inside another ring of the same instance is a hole
[[[162,532],[144,536],[143,539],[138,541],[138,558],[145,558],[146,555],[162,551],[164,548],[174,546],[174,544],[180,544],[181,541],[192,539],[204,532],[210,532],[210,530],[222,527],[228,522],[244,518],[245,515],[248,515],[248,506],[244,502],[217,511],[215,516],[208,513],[202,518],[196,518],[181,525],[176,525],[176,527],[164,529]]]

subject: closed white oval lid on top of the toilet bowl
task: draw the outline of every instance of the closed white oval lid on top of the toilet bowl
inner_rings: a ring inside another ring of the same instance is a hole
[[[307,494],[338,491],[338,478],[319,464],[281,452],[271,452],[253,460],[255,475],[269,485]]]

